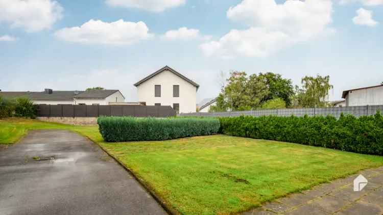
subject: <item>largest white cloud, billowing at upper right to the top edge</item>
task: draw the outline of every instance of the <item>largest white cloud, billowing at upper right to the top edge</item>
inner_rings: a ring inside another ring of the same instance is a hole
[[[312,40],[333,31],[330,0],[286,1],[244,0],[227,11],[233,21],[250,26],[231,30],[218,41],[200,47],[206,56],[266,57],[279,49]]]

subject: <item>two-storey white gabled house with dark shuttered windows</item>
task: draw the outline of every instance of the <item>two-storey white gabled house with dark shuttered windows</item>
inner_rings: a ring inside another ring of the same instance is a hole
[[[134,84],[138,101],[146,105],[170,105],[177,113],[196,112],[199,85],[165,66]]]

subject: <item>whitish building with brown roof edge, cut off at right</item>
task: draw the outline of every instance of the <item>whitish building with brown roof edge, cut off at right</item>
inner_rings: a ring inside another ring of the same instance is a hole
[[[383,85],[343,91],[346,106],[383,105]]]

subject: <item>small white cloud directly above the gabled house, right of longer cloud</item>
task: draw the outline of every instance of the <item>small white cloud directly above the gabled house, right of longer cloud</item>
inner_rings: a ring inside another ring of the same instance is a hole
[[[193,39],[204,39],[209,40],[211,36],[202,36],[198,29],[188,29],[186,27],[179,28],[177,30],[167,31],[163,38],[165,40],[193,40]]]

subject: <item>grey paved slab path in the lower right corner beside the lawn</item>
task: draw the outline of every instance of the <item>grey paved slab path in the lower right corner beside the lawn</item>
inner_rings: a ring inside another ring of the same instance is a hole
[[[353,180],[360,174],[368,183],[355,192]],[[244,214],[383,214],[383,167],[277,199]]]

